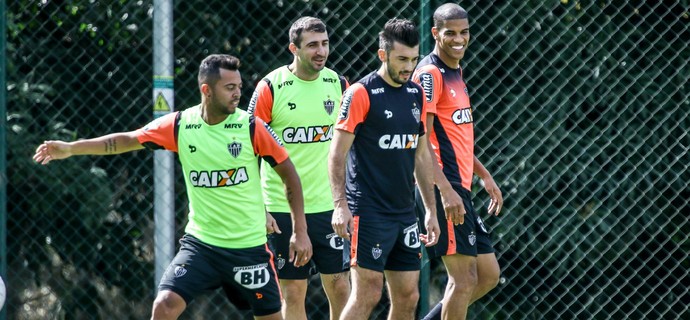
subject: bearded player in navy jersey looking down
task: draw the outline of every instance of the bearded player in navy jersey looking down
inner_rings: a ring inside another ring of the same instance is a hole
[[[381,67],[345,92],[328,158],[333,229],[351,241],[352,293],[342,320],[369,318],[381,298],[384,274],[388,319],[414,319],[420,240],[433,245],[439,232],[424,92],[409,81],[419,59],[416,26],[389,20],[379,33],[378,58]],[[415,179],[427,235],[420,235],[417,225]]]

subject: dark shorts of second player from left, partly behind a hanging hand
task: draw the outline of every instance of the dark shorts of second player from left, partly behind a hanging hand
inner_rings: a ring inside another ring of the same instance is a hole
[[[275,255],[280,279],[307,279],[316,273],[334,274],[350,270],[348,261],[343,260],[343,238],[333,232],[331,217],[333,211],[306,214],[307,234],[312,245],[312,257],[307,265],[295,268],[290,263],[290,237],[292,219],[289,213],[271,213],[282,233],[269,235],[271,249]]]

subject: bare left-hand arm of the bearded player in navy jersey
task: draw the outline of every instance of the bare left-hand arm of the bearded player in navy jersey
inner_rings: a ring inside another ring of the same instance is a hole
[[[345,162],[347,152],[350,150],[354,140],[354,134],[343,130],[336,130],[333,134],[331,149],[328,153],[328,177],[331,182],[331,192],[333,193],[333,203],[335,205],[331,226],[333,226],[335,233],[347,240],[350,239],[348,230],[352,230],[353,220],[345,195]]]

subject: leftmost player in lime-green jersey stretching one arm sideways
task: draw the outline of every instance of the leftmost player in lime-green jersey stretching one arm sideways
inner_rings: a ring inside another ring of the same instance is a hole
[[[119,154],[143,148],[179,154],[189,197],[189,222],[153,303],[152,319],[176,319],[208,289],[238,292],[256,319],[282,319],[281,293],[266,226],[258,157],[285,181],[294,215],[290,261],[311,258],[299,176],[270,128],[241,109],[240,61],[210,55],[199,67],[201,104],[160,117],[142,129],[74,142],[45,141],[34,161]]]

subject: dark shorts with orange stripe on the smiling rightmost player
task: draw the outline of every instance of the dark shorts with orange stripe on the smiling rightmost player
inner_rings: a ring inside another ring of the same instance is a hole
[[[446,220],[446,212],[443,209],[441,193],[434,187],[436,194],[436,216],[438,226],[441,229],[438,243],[427,248],[429,258],[453,255],[456,253],[466,256],[476,257],[477,254],[494,252],[491,242],[491,234],[486,229],[484,221],[474,211],[472,205],[472,193],[463,187],[453,186],[455,192],[460,195],[462,203],[465,205],[465,222],[454,225],[453,222]],[[415,190],[417,213],[420,220],[424,217],[424,204],[419,194],[419,189]]]

